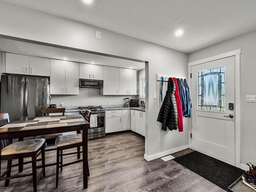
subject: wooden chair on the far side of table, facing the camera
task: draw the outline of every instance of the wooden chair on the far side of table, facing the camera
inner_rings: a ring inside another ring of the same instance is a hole
[[[49,116],[49,113],[62,113],[62,115],[65,115],[65,110],[66,108],[55,108],[55,109],[42,109],[41,113],[43,116]],[[55,139],[56,137],[62,135],[61,133],[56,133],[56,134],[50,134],[50,135],[40,135],[36,136],[35,138],[42,138],[42,139]],[[52,151],[55,150],[53,149],[46,149],[45,151]]]

